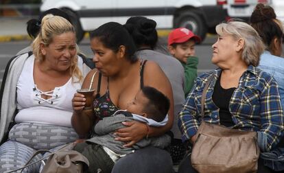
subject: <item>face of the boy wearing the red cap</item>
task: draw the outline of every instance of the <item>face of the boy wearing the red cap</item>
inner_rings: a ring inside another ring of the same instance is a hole
[[[169,45],[169,53],[181,62],[187,63],[187,58],[196,54],[195,45],[196,42],[193,39],[176,45],[176,48]]]

